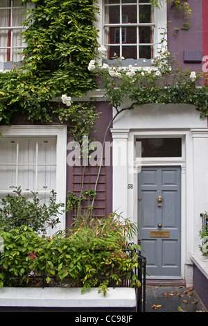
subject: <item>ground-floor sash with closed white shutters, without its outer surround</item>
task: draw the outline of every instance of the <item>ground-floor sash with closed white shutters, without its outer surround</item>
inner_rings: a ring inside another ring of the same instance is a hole
[[[56,189],[55,175],[55,137],[0,139],[1,195],[21,186],[23,193],[38,191],[47,199]]]

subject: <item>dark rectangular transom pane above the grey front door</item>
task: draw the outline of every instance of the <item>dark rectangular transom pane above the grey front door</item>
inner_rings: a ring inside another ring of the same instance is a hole
[[[181,157],[181,138],[141,138],[136,141],[137,146],[141,141],[141,157]]]

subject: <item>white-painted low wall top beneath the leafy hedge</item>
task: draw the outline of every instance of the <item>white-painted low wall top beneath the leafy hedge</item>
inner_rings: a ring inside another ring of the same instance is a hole
[[[137,306],[135,289],[109,288],[104,296],[98,288],[0,288],[0,307],[119,308]]]

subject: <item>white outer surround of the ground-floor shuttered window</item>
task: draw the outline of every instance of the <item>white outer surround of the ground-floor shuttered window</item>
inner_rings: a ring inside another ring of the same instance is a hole
[[[67,126],[40,126],[40,125],[26,125],[26,126],[0,126],[1,137],[56,137],[56,189],[57,203],[64,203],[66,201],[66,187],[67,187]],[[65,214],[60,215],[60,223],[58,223],[58,230],[66,228]],[[55,230],[56,231],[56,230]],[[53,232],[55,232],[53,231]]]

